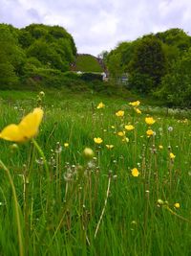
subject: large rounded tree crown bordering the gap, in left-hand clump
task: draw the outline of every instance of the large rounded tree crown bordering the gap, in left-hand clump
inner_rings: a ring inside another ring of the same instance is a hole
[[[76,48],[72,35],[60,26],[31,24],[22,31],[20,40],[28,57],[37,58],[49,68],[67,71],[74,62]],[[29,35],[30,34],[30,35]]]

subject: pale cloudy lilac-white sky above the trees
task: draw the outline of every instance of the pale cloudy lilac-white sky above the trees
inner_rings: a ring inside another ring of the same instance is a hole
[[[191,0],[0,0],[0,23],[62,26],[79,54],[94,56],[171,28],[191,35],[190,13]]]

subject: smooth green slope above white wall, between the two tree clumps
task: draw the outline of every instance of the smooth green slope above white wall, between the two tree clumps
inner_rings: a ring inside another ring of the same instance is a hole
[[[78,55],[75,70],[81,72],[103,72],[97,59],[91,55]]]

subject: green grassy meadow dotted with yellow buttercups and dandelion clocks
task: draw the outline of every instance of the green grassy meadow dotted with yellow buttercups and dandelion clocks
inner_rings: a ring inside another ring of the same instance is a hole
[[[0,140],[0,255],[191,255],[189,111],[0,95],[0,130],[44,109],[35,140]]]

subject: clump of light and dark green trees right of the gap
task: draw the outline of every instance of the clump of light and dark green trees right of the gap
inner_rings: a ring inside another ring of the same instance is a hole
[[[168,105],[191,106],[191,36],[183,30],[121,42],[102,57],[110,76],[128,75],[128,88]]]

